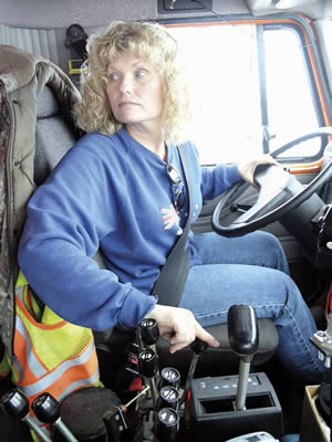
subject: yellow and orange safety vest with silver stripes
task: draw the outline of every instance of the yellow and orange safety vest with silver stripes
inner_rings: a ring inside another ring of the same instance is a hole
[[[29,308],[30,298],[27,305],[27,291],[28,283],[20,274],[13,382],[30,403],[45,391],[61,401],[79,388],[96,386],[100,373],[92,330],[63,320],[48,306],[41,323],[37,322]],[[31,411],[30,414],[33,417]]]

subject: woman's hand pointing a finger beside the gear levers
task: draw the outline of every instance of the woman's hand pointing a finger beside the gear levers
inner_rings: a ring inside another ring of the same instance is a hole
[[[157,304],[146,317],[157,322],[159,334],[168,340],[172,354],[187,347],[196,338],[204,340],[211,347],[219,346],[218,340],[207,333],[195,319],[193,313],[186,308]]]

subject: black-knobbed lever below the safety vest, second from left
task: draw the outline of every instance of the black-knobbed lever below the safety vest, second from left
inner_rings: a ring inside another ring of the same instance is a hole
[[[43,422],[53,425],[69,442],[79,442],[69,428],[60,418],[60,404],[50,393],[40,394],[32,402],[32,410],[37,418]]]

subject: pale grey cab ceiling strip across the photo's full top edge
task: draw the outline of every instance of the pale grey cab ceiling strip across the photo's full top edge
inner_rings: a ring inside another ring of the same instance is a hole
[[[205,0],[197,1],[204,3]],[[287,1],[290,8],[276,9],[280,1]],[[217,14],[261,15],[299,11],[312,18],[332,17],[330,0],[214,0],[212,9]],[[174,13],[160,15],[157,0],[0,0],[0,24],[35,29],[66,28],[72,23],[103,27],[113,20],[155,20],[176,17]],[[177,17],[206,14],[210,15],[211,12],[179,12]]]

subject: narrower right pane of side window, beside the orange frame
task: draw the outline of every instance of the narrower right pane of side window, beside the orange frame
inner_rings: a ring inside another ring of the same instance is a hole
[[[299,34],[292,29],[264,32],[270,151],[319,127]],[[321,146],[313,138],[284,156],[314,156]]]

